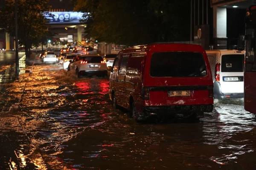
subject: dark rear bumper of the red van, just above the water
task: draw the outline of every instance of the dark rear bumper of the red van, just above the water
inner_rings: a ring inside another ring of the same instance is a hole
[[[143,113],[145,116],[154,114],[191,114],[212,112],[213,105],[174,105],[174,106],[161,106],[161,107],[144,107]]]

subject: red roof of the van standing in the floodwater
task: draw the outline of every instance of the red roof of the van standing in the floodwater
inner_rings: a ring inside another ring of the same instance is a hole
[[[157,48],[161,47],[164,49],[166,46],[172,45],[172,47],[183,47],[188,48],[187,50],[184,49],[184,51],[191,51],[189,49],[194,49],[195,51],[203,51],[203,48],[201,45],[196,44],[185,44],[185,43],[170,43],[170,42],[155,42],[147,45],[136,45],[130,48],[125,48],[122,51],[119,52],[119,54],[122,53],[131,53],[131,52],[145,52],[148,51],[150,48]]]

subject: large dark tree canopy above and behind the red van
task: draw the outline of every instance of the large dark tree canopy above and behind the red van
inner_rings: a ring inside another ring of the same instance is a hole
[[[189,40],[189,0],[77,0],[88,37],[124,45]]]

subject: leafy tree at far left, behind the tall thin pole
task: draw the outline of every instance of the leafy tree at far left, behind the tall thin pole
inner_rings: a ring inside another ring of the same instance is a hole
[[[26,56],[30,57],[32,45],[38,46],[47,34],[47,19],[44,11],[49,9],[47,0],[17,0],[18,6],[18,40],[24,45]],[[15,3],[5,0],[0,7],[0,27],[15,36]]]

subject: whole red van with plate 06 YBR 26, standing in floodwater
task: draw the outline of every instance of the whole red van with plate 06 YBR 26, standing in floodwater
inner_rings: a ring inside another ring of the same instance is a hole
[[[213,109],[213,83],[200,45],[155,43],[119,52],[110,75],[113,107],[137,121],[156,114],[201,118]]]

